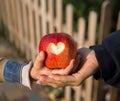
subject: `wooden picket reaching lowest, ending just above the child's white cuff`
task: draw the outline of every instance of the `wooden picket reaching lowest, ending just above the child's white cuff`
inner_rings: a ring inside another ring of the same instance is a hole
[[[23,33],[21,33],[22,41],[23,41],[23,47],[22,51],[25,52],[25,56],[27,60],[31,59],[31,50],[30,50],[30,33],[29,33],[29,21],[28,21],[28,5],[25,3],[25,0],[20,1],[21,2],[21,10],[22,10],[22,25],[23,25]]]

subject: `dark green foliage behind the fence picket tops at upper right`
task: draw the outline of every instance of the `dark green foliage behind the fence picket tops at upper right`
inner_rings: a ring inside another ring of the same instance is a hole
[[[100,21],[101,7],[105,0],[63,0],[63,7],[67,4],[72,4],[74,6],[74,28],[77,26],[77,20],[79,17],[84,17],[86,21],[88,20],[89,12],[94,10],[98,13],[98,22]],[[112,30],[116,28],[116,22],[118,17],[118,12],[120,11],[120,0],[110,0],[113,4],[113,22]],[[98,25],[99,26],[99,25]]]

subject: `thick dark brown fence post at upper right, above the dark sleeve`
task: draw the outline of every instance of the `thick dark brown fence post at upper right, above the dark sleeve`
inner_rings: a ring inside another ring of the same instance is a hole
[[[103,37],[110,33],[111,23],[112,4],[107,0],[102,4],[101,9],[99,43],[101,43]]]

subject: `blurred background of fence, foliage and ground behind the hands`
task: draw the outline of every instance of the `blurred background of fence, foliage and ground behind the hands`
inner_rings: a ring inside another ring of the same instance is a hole
[[[35,59],[42,36],[71,35],[80,47],[100,44],[120,29],[119,0],[0,0],[0,57]],[[92,77],[79,87],[55,89],[0,83],[0,101],[120,101],[120,90]]]

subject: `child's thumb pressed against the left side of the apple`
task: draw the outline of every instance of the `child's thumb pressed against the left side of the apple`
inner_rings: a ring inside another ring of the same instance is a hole
[[[45,60],[45,52],[41,51],[34,62],[34,67],[38,69],[42,67],[44,65],[44,60]]]

